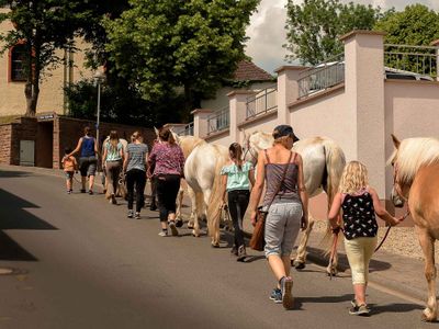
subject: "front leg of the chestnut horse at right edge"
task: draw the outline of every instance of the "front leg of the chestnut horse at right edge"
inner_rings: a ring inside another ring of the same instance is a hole
[[[425,258],[425,276],[428,284],[427,307],[424,309],[423,319],[426,321],[436,321],[438,309],[436,300],[436,266],[435,266],[435,239],[426,229],[417,228],[420,248],[423,248]]]

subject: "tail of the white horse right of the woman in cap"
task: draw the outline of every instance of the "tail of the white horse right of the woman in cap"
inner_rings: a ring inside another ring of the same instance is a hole
[[[346,166],[345,152],[342,149],[331,139],[325,139],[325,162],[326,162],[326,194],[328,196],[328,212],[333,205],[333,201],[338,191],[338,185],[340,183],[341,173]],[[329,223],[327,224],[326,234],[324,241],[326,242],[325,254],[328,256],[331,252],[334,245],[333,231],[330,229]]]

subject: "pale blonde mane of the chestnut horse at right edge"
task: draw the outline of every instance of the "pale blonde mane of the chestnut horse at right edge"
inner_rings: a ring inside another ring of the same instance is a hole
[[[407,138],[390,159],[396,157],[401,184],[410,184],[420,167],[439,161],[439,140],[436,138]]]

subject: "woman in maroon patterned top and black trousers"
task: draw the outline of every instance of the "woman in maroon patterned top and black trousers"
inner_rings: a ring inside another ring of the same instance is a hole
[[[149,166],[154,168],[153,179],[156,183],[161,231],[159,236],[168,235],[168,225],[172,236],[178,236],[176,227],[176,200],[183,177],[184,156],[176,144],[169,128],[162,127],[149,156]]]

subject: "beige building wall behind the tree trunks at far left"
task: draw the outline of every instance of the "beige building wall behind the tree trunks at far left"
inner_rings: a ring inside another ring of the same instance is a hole
[[[2,10],[4,12],[4,10]],[[10,22],[0,24],[0,32],[13,29]],[[85,54],[83,49],[87,45],[80,39],[77,41],[77,47],[80,49],[74,55],[74,68],[71,70],[71,81],[76,82],[82,78],[92,77],[92,72],[83,67]],[[57,56],[64,57],[64,50],[58,50]],[[0,56],[0,116],[3,115],[23,115],[26,110],[24,98],[24,82],[9,81],[9,52],[4,52]],[[68,77],[66,77],[68,80]],[[63,65],[55,70],[47,71],[43,77],[40,87],[40,99],[37,104],[37,113],[56,112],[63,114],[64,104],[64,79],[65,70]]]

